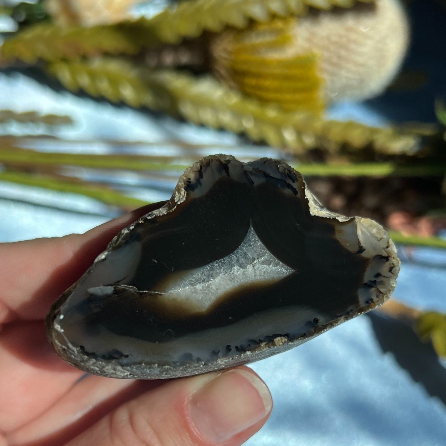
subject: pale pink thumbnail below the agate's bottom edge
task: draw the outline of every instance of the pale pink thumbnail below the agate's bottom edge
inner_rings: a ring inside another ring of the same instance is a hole
[[[189,412],[200,434],[224,442],[262,420],[273,401],[256,375],[234,369],[207,382],[191,397]]]

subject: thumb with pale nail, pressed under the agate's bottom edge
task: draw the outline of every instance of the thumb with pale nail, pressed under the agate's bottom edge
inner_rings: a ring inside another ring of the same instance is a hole
[[[172,380],[109,413],[67,446],[238,446],[272,409],[247,367]]]

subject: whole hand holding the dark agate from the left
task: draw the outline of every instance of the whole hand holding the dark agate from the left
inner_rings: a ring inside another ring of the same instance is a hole
[[[268,418],[268,388],[247,367],[178,380],[83,377],[46,341],[51,303],[155,207],[83,235],[0,244],[0,446],[235,446]]]

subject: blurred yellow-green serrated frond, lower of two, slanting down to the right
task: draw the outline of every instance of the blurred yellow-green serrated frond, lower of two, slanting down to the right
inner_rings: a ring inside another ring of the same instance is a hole
[[[138,69],[130,62],[112,58],[56,62],[48,71],[70,91],[83,89],[113,102],[167,111],[196,124],[246,133],[253,141],[266,141],[295,153],[317,147],[336,152],[341,146],[352,150],[372,146],[382,153],[410,153],[419,141],[415,135],[401,134],[392,128],[285,112],[275,104],[245,98],[211,76],[195,78],[173,70]]]

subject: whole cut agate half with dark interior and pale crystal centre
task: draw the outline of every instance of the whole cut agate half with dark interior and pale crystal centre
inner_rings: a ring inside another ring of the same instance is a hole
[[[58,355],[114,378],[256,361],[382,304],[399,260],[376,222],[326,211],[289,165],[215,155],[121,231],[52,306]]]

